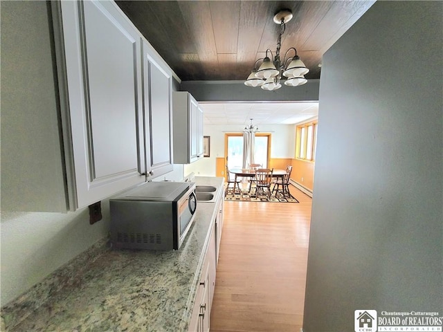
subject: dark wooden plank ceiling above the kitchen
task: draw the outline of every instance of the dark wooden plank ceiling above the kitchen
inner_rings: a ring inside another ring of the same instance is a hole
[[[246,80],[266,48],[275,53],[278,10],[288,8],[280,56],[291,47],[320,78],[323,53],[370,1],[116,1],[183,81]],[[293,54],[292,54],[293,55]]]

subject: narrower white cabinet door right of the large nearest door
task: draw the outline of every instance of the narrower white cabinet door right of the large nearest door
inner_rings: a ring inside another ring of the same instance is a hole
[[[145,119],[146,173],[166,174],[172,165],[172,75],[143,42],[143,115]]]

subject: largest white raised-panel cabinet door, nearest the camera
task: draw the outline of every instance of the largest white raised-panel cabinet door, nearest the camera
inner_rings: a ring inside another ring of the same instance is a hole
[[[61,6],[81,208],[145,181],[141,39],[110,1]]]

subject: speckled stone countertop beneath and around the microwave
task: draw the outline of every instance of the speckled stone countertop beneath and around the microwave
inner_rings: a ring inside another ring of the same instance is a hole
[[[195,182],[217,186],[216,201],[222,199],[223,178],[196,177]],[[179,250],[103,248],[75,282],[47,295],[15,326],[6,324],[7,331],[188,331],[216,203],[199,202],[196,213]],[[8,310],[6,320],[17,321],[15,315],[30,308],[22,301]]]

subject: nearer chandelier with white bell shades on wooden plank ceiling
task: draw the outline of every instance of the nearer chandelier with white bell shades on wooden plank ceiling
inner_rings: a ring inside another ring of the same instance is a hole
[[[284,54],[283,61],[280,60],[282,35],[284,33],[285,24],[291,21],[291,19],[292,12],[289,9],[280,10],[274,15],[273,21],[275,24],[280,24],[280,34],[278,35],[275,57],[273,57],[271,50],[268,48],[266,50],[266,56],[255,62],[251,75],[249,75],[246,82],[244,82],[246,86],[261,86],[263,90],[267,91],[277,90],[282,87],[282,84],[280,84],[282,75],[287,77],[287,80],[284,81],[284,84],[287,86],[299,86],[307,82],[305,74],[309,72],[309,69],[306,68],[302,60],[300,60],[300,57],[298,57],[295,47],[289,48]],[[295,52],[295,55],[287,58],[287,55],[291,50]],[[271,53],[273,61],[269,58],[268,52]],[[262,61],[262,64],[257,68],[257,64],[260,61]]]

